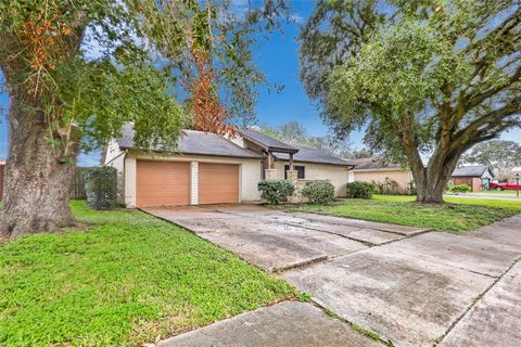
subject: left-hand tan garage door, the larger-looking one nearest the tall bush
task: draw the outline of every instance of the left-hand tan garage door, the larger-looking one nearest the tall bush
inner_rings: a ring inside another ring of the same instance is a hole
[[[137,162],[136,206],[190,204],[190,163]]]

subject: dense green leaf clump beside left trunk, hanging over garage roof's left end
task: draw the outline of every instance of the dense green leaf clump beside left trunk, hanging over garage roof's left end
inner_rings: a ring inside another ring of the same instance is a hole
[[[128,123],[141,149],[176,150],[185,124],[182,108],[170,97],[168,80],[154,67],[139,62],[117,68],[110,61],[77,60],[54,76],[53,97],[61,101],[56,127],[74,125],[84,151],[102,146],[120,136]]]

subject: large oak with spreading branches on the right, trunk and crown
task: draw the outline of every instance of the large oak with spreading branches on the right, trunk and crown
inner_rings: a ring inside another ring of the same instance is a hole
[[[410,167],[418,202],[443,202],[463,152],[521,126],[517,0],[321,1],[300,40],[323,118],[339,134],[366,126]]]

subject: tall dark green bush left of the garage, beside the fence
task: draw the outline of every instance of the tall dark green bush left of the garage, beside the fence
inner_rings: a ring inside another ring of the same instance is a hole
[[[87,204],[94,209],[110,209],[117,206],[117,170],[113,167],[85,169],[85,192]]]

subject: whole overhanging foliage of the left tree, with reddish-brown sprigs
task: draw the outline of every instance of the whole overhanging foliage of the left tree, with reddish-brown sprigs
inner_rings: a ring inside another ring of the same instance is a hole
[[[282,13],[275,2],[241,17],[229,1],[10,1],[0,4],[0,68],[64,159],[78,146],[100,147],[127,123],[137,146],[175,151],[187,124],[175,92],[193,97],[194,48],[215,60],[208,89],[225,95],[230,119],[255,118],[265,79],[251,47],[260,23]]]

